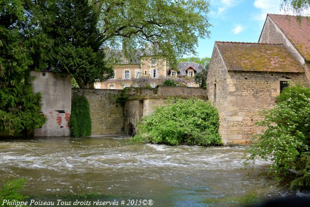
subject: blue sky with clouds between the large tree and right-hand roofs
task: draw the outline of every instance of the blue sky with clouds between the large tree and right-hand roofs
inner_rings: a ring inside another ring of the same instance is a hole
[[[267,13],[280,11],[281,0],[210,0],[210,38],[200,39],[200,58],[211,57],[215,41],[258,42]],[[191,55],[193,56],[193,55]]]

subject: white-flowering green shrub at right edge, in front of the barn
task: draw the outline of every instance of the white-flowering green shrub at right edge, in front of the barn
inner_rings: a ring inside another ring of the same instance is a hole
[[[264,111],[265,118],[258,125],[265,127],[265,130],[257,135],[248,149],[250,156],[247,163],[254,162],[256,156],[271,159],[274,163],[270,171],[279,179],[286,175],[288,169],[297,169],[299,175],[292,187],[310,189],[309,114],[310,88],[293,86],[284,89],[277,97],[275,108]]]

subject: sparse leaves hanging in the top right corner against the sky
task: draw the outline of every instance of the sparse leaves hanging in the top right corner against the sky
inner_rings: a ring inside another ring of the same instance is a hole
[[[292,11],[300,20],[301,16],[310,15],[310,0],[282,0],[281,9],[286,13]]]

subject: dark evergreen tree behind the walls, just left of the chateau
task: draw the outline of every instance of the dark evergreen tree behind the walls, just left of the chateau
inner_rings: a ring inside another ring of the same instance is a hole
[[[97,28],[99,16],[88,0],[56,0],[51,14],[55,20],[45,28],[54,39],[49,69],[69,73],[80,88],[93,88],[95,81],[113,75],[105,64],[103,36]]]

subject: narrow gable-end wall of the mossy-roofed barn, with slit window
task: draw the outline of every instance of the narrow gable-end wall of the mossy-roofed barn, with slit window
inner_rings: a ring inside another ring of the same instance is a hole
[[[212,59],[209,67],[207,78],[207,95],[209,101],[217,107],[219,115],[219,133],[222,137],[223,143],[226,144],[227,137],[227,93],[231,91],[232,87],[227,84],[227,68],[219,53],[217,45],[215,45]]]

